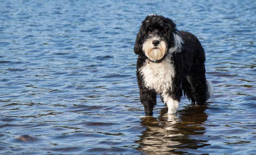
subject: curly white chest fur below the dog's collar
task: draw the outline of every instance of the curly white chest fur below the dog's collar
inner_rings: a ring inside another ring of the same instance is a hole
[[[172,79],[175,70],[169,58],[165,58],[161,63],[145,63],[140,68],[143,75],[144,84],[147,88],[155,89],[157,93],[165,93],[172,86]]]

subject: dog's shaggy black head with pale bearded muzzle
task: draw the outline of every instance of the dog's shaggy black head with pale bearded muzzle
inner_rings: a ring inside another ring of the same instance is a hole
[[[142,22],[134,53],[156,61],[168,53],[180,52],[181,43],[180,34],[171,19],[151,14]]]

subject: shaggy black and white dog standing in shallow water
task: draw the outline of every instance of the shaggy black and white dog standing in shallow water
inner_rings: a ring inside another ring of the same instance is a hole
[[[156,94],[168,106],[168,114],[177,112],[182,90],[192,105],[204,105],[213,95],[213,85],[205,76],[201,43],[193,34],[178,31],[171,19],[147,16],[134,52],[138,54],[137,80],[146,115],[153,115]]]

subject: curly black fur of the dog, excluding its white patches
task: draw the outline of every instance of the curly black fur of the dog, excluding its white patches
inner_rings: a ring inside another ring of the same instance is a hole
[[[209,98],[209,93],[205,76],[205,54],[200,41],[189,32],[178,31],[176,24],[171,19],[149,15],[142,22],[134,45],[134,53],[138,54],[137,80],[140,88],[140,101],[144,105],[146,115],[153,115],[153,107],[156,104],[155,90],[145,86],[144,78],[139,71],[145,63],[148,63],[148,58],[142,50],[144,41],[149,37],[148,31],[156,32],[164,37],[167,42],[167,49],[175,46],[173,34],[182,37],[181,51],[173,52],[171,57],[176,74],[168,92],[174,100],[180,101],[183,90],[184,95],[192,102],[192,105],[195,103],[196,105],[204,105]],[[168,53],[167,50],[165,56]]]

